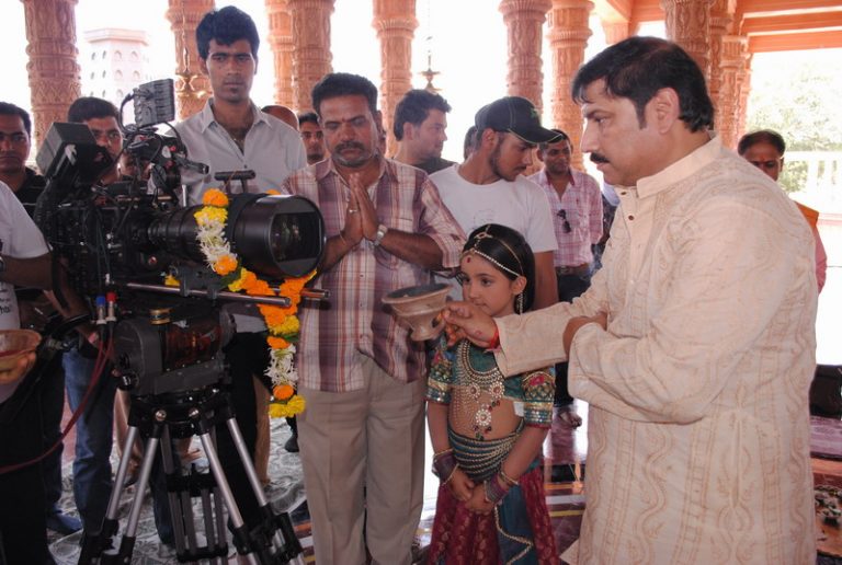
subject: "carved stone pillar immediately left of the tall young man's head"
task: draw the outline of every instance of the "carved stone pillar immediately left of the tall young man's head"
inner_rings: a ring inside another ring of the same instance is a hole
[[[175,37],[175,101],[179,119],[200,112],[210,96],[210,81],[200,70],[196,27],[214,0],[169,0],[167,20]]]

